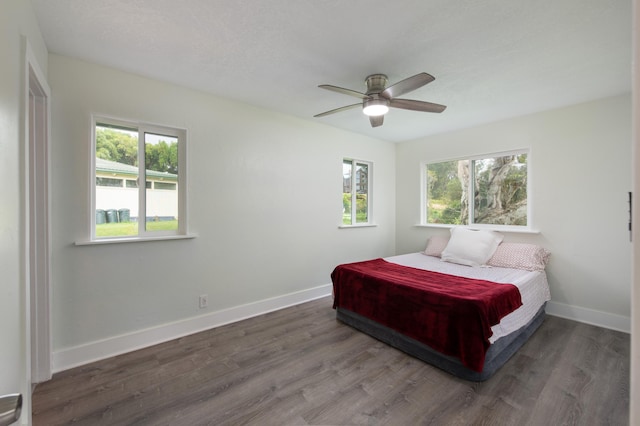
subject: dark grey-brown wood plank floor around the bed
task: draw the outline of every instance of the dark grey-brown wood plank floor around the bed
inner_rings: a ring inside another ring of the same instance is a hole
[[[626,425],[628,334],[548,316],[494,377],[456,379],[329,298],[56,374],[34,425]]]

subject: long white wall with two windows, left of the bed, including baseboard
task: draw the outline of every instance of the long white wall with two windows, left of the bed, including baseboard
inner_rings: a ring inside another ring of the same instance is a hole
[[[329,294],[338,263],[394,253],[393,144],[62,56],[50,55],[49,76],[54,369],[117,346],[104,339],[318,286]],[[197,238],[74,245],[93,214],[91,113],[187,129]],[[377,227],[338,229],[343,157],[374,163]]]

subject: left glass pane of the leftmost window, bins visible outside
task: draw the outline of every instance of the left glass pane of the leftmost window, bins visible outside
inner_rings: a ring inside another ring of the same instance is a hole
[[[96,238],[138,234],[138,132],[96,124]]]

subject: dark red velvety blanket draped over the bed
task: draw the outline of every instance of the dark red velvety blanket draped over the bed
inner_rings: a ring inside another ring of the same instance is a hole
[[[333,307],[348,309],[482,371],[491,326],[522,305],[512,284],[462,278],[383,259],[337,266]]]

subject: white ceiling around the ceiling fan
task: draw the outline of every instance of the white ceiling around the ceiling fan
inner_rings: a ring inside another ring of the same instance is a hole
[[[631,0],[32,0],[49,51],[400,142],[631,91]],[[371,128],[366,91],[418,72]]]

